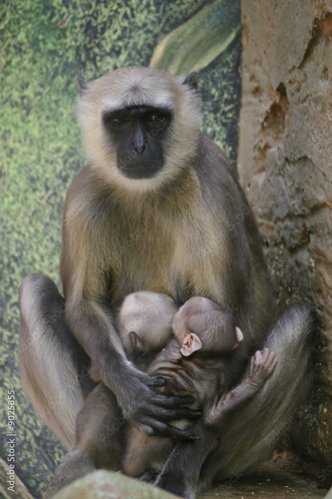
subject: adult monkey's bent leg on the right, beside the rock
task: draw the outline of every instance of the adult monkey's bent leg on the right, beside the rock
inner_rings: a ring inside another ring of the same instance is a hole
[[[208,487],[214,478],[237,479],[252,466],[269,459],[285,431],[295,423],[294,415],[306,401],[312,385],[315,331],[316,317],[309,306],[285,309],[258,345],[274,351],[278,359],[265,385],[223,420],[216,431],[204,431],[203,424],[198,422],[195,434],[202,440],[177,444],[155,485],[193,498],[197,489]],[[247,376],[249,372],[248,366]]]

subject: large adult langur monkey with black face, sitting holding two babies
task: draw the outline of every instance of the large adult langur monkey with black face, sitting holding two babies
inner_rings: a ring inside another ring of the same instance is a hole
[[[126,359],[116,309],[127,294],[141,289],[168,294],[178,305],[200,295],[229,308],[246,332],[230,365],[235,386],[248,373],[251,353],[274,313],[261,239],[227,158],[199,131],[194,74],[183,79],[127,67],[78,84],[88,164],[65,201],[64,300],[49,278],[24,279],[22,383],[36,411],[71,447],[76,415],[92,389],[87,376],[81,382],[79,375],[91,359],[96,379],[113,394],[114,414],[121,411],[147,435],[185,439],[156,485],[192,498],[211,476],[243,473],[271,455],[276,435],[282,435],[310,384],[315,317],[306,305],[280,316],[259,347],[276,353],[274,372],[227,432],[206,430],[202,420],[188,430],[169,425],[196,413],[183,407],[185,397],[156,393],[163,380]],[[190,441],[193,436],[201,440]],[[116,436],[114,442],[110,468],[118,469]]]

